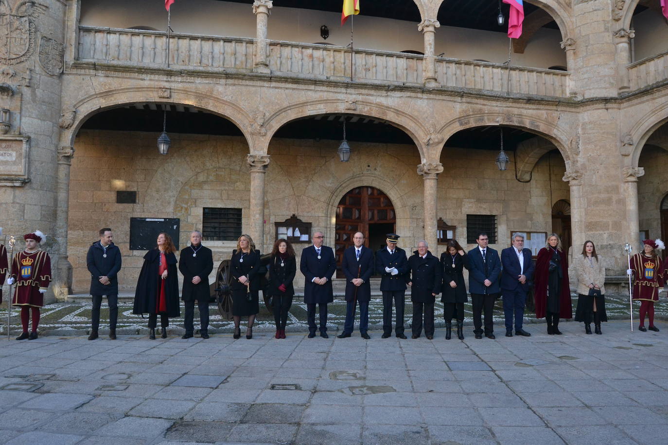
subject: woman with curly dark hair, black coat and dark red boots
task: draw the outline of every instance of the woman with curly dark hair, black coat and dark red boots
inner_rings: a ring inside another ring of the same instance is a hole
[[[295,250],[288,240],[279,238],[274,243],[269,260],[269,295],[276,322],[275,338],[285,338],[288,311],[295,295],[293,280],[297,273]]]

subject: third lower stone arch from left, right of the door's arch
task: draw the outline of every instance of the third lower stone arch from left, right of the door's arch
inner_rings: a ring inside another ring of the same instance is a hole
[[[550,141],[550,143],[554,144],[551,149],[556,148],[559,150],[559,153],[561,153],[562,157],[564,158],[564,162],[566,163],[566,170],[570,170],[570,166],[575,160],[571,155],[570,149],[568,149],[568,147],[570,147],[570,145],[573,143],[576,143],[576,139],[568,136],[566,131],[560,129],[547,119],[536,119],[535,117],[522,115],[520,113],[470,114],[459,116],[443,125],[443,127],[438,130],[438,133],[444,135],[444,139],[447,141],[450,136],[463,129],[484,127],[488,125],[500,125],[505,127],[518,128],[544,137]],[[531,157],[534,157],[535,155],[538,155],[540,151],[546,149],[546,147],[541,148],[539,145],[540,144],[536,144],[536,147],[533,149],[531,147],[527,147],[527,156],[531,155]],[[546,152],[547,151],[544,153]],[[440,151],[438,155],[440,157]],[[538,159],[539,158],[540,157],[538,157]],[[536,159],[536,161],[538,161],[538,159]],[[527,157],[527,161],[524,163],[524,169],[526,170],[526,168],[529,166],[531,169],[533,169],[533,165],[535,165],[535,162],[532,164],[530,158]]]

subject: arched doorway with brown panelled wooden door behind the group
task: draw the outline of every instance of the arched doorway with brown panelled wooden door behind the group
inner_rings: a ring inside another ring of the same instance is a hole
[[[336,210],[336,258],[341,264],[343,251],[353,246],[353,234],[362,232],[365,246],[374,251],[385,246],[385,234],[395,230],[392,201],[375,187],[355,187],[341,197]]]

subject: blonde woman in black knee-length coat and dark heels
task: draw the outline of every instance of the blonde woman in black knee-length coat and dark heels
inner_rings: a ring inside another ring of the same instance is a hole
[[[255,323],[255,316],[260,312],[258,305],[260,255],[260,251],[255,250],[253,238],[248,235],[242,235],[238,238],[230,264],[234,338],[241,336],[239,322],[242,316],[248,316],[246,338],[248,340],[253,338],[253,323]]]

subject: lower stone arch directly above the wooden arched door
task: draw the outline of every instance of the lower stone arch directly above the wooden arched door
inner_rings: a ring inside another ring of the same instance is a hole
[[[295,121],[301,117],[311,117],[327,114],[349,114],[365,117],[372,117],[387,121],[391,125],[403,130],[418,147],[420,159],[423,162],[428,159],[428,153],[425,149],[430,144],[429,137],[434,131],[429,131],[424,127],[422,121],[401,109],[389,107],[378,103],[371,103],[362,100],[324,99],[322,101],[301,101],[293,103],[275,111],[269,115],[263,125],[263,147],[257,147],[261,154],[267,154],[269,142],[279,128],[286,123]],[[423,143],[423,141],[425,141]]]

